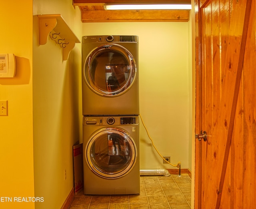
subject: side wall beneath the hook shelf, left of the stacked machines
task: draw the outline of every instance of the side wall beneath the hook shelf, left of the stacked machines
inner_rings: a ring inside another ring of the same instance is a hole
[[[39,45],[37,14],[61,14],[81,39],[79,8],[70,0],[34,0],[33,114],[37,209],[60,208],[74,186],[72,146],[82,139],[81,45],[63,61],[62,48],[48,37]],[[66,169],[67,179],[64,178]]]

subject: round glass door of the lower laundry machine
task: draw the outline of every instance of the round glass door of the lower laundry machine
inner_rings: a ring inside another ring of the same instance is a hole
[[[124,130],[104,128],[89,139],[85,155],[88,166],[96,175],[115,179],[132,170],[137,159],[137,148]]]

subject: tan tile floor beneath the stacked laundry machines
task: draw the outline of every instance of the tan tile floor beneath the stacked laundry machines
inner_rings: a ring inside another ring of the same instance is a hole
[[[190,209],[191,178],[141,176],[140,195],[75,195],[69,209]]]

